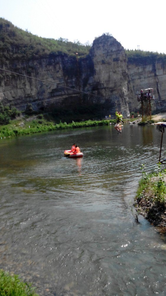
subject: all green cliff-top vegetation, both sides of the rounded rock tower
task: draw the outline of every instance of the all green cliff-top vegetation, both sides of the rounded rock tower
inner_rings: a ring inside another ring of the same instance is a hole
[[[105,33],[112,36],[110,33]],[[96,37],[97,38],[97,37]],[[14,26],[8,20],[0,18],[0,64],[7,61],[40,59],[48,57],[49,54],[68,54],[78,57],[85,57],[89,54],[92,44],[87,42],[81,44],[80,41],[73,43],[67,38],[60,37],[58,40],[53,38],[42,38],[33,35],[27,30],[24,31]],[[129,63],[147,65],[156,61],[166,63],[166,54],[158,52],[145,52],[142,50],[125,49],[126,58]]]

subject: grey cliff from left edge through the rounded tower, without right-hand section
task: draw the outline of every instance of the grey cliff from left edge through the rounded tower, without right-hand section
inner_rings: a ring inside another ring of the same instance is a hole
[[[10,70],[39,79],[1,71],[0,100],[19,110],[24,110],[27,103],[34,110],[97,103],[103,108],[103,116],[114,114],[116,107],[124,117],[129,116],[128,93],[132,86],[125,52],[111,36],[97,38],[86,58],[50,54],[30,62],[12,61]]]

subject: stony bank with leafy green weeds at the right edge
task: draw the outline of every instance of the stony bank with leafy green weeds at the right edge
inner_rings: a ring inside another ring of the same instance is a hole
[[[163,227],[166,231],[166,169],[158,164],[157,169],[146,173],[145,166],[142,166],[142,179],[139,182],[135,207],[139,214],[142,214],[155,226]]]

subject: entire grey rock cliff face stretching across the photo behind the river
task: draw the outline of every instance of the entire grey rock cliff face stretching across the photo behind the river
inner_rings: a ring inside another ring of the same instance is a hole
[[[11,48],[16,51],[16,46]],[[27,62],[0,59],[0,68],[32,78],[0,71],[0,102],[25,110],[68,108],[76,110],[97,104],[103,117],[115,110],[129,117],[137,111],[137,92],[153,88],[155,108],[165,111],[166,68],[160,60],[127,62],[124,48],[114,37],[105,34],[93,41],[85,58],[64,53],[49,54]]]

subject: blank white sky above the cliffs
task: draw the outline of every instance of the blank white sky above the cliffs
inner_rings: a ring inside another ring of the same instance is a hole
[[[34,35],[82,44],[109,32],[126,49],[166,54],[164,0],[0,0],[0,17]]]

